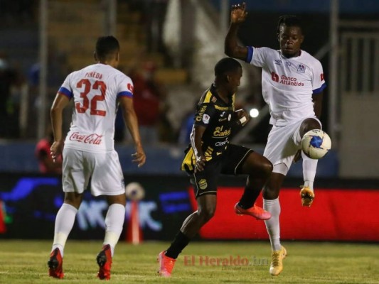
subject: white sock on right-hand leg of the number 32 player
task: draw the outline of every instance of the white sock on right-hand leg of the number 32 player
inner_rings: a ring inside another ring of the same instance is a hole
[[[122,226],[125,219],[125,207],[122,204],[114,203],[108,208],[105,217],[105,238],[103,244],[109,244],[113,256],[114,247],[119,241],[119,235],[122,232]]]

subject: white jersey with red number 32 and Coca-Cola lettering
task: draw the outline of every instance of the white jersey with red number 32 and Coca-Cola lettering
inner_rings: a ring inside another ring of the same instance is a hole
[[[117,97],[133,97],[133,82],[110,65],[97,63],[72,72],[60,94],[74,99],[75,109],[65,147],[93,153],[114,150]]]

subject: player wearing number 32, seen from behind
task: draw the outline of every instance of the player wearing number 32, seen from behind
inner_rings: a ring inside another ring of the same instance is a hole
[[[64,203],[55,219],[53,248],[48,261],[49,275],[54,278],[63,278],[63,249],[90,182],[92,195],[105,195],[109,204],[105,239],[102,251],[97,254],[97,277],[110,279],[114,246],[122,231],[126,204],[124,178],[113,139],[119,105],[136,148],[132,161],[141,167],[146,160],[133,107],[133,82],[115,69],[119,63],[118,40],[111,35],[98,38],[95,60],[96,64],[68,75],[50,109],[54,133],[50,151],[54,160],[63,153],[65,192]],[[63,142],[62,114],[71,99],[75,106],[73,119]]]

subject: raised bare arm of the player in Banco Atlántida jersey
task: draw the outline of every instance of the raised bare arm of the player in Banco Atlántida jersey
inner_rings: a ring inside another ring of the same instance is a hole
[[[238,45],[237,31],[240,23],[243,23],[247,16],[247,11],[245,9],[245,2],[232,6],[232,11],[230,12],[230,26],[225,37],[224,45],[224,52],[226,55],[231,58],[237,58],[244,61],[247,58],[247,48],[245,46]]]

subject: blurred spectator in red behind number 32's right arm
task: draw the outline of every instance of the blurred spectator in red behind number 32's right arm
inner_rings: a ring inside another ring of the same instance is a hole
[[[156,66],[146,62],[142,72],[137,68],[129,72],[134,84],[134,109],[137,113],[139,131],[144,143],[170,141],[172,131],[166,119],[166,92],[159,82],[154,79]]]

